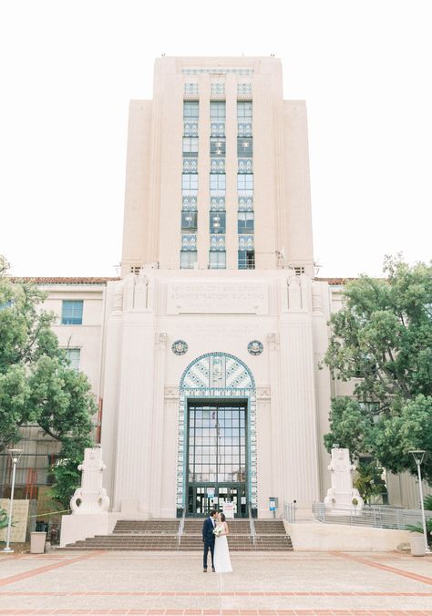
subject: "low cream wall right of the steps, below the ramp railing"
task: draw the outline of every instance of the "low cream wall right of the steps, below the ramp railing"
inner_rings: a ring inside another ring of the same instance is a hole
[[[389,552],[400,543],[409,542],[408,530],[374,529],[347,524],[320,522],[290,524],[284,522],[293,541],[293,549],[310,551],[344,550],[355,552]]]

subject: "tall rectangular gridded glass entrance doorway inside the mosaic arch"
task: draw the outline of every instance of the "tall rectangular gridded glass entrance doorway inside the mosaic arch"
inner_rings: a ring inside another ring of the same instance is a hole
[[[248,515],[246,401],[188,406],[188,516],[234,505],[236,518]]]

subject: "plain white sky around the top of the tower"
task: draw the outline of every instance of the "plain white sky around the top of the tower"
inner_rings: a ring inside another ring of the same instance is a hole
[[[116,275],[129,98],[154,58],[270,56],[306,100],[320,276],[430,259],[430,0],[0,3],[0,252]]]

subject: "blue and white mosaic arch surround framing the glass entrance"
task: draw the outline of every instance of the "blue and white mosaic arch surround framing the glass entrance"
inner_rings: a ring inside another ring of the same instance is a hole
[[[191,362],[180,379],[177,455],[177,508],[186,506],[186,419],[188,398],[246,398],[248,402],[248,500],[257,507],[255,381],[241,359],[227,353],[207,353]]]

